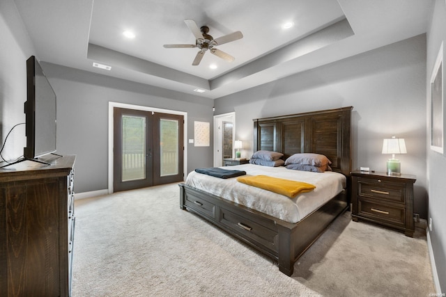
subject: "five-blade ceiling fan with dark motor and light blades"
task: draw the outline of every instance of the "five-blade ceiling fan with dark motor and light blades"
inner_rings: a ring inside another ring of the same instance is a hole
[[[195,59],[192,62],[192,65],[194,66],[199,65],[201,59],[204,56],[204,53],[206,53],[207,50],[210,51],[210,54],[214,54],[215,56],[220,57],[226,61],[232,62],[235,60],[233,56],[226,54],[224,51],[220,51],[220,49],[216,49],[215,46],[223,45],[224,43],[243,38],[243,34],[240,31],[229,33],[227,35],[223,35],[222,37],[214,39],[211,35],[208,35],[209,32],[208,26],[202,26],[199,29],[193,19],[185,19],[184,22],[186,23],[187,27],[189,27],[190,31],[192,31],[192,34],[194,34],[196,38],[195,45],[163,45],[165,48],[173,49],[173,48],[183,48],[183,47],[185,48],[198,47],[200,51],[197,53],[197,56],[195,56]]]

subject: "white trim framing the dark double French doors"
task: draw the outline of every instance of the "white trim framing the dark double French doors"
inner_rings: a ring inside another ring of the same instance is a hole
[[[119,102],[109,102],[109,170],[108,170],[108,193],[113,193],[113,109],[118,107],[121,109],[135,109],[138,111],[153,111],[155,113],[170,113],[172,115],[183,115],[184,117],[184,162],[183,162],[183,176],[187,175],[187,112],[185,111],[172,111],[169,109],[157,109],[156,107],[125,104]]]

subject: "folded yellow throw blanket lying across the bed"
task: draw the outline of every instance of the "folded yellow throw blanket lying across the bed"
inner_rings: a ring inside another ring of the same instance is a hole
[[[238,177],[237,180],[238,182],[243,182],[243,184],[249,184],[249,186],[256,186],[257,188],[286,195],[289,198],[294,198],[300,193],[313,191],[316,188],[313,184],[307,184],[306,182],[295,182],[290,179],[268,177],[267,175],[244,176]]]

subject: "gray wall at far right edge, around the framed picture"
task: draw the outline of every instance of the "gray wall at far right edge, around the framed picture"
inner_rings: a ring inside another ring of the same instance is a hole
[[[436,61],[441,42],[446,42],[446,4],[444,0],[436,0],[433,10],[431,26],[427,33],[427,58],[426,58],[426,86],[429,86],[433,65]],[[443,45],[446,47],[446,43]],[[443,69],[445,69],[445,58],[443,58]],[[443,72],[443,86],[446,86],[445,72]],[[443,99],[445,97],[443,89]],[[429,90],[426,93],[426,106],[429,106]],[[445,106],[443,106],[445,111]],[[446,115],[446,113],[445,113]],[[446,118],[443,118],[446,124]],[[446,127],[446,125],[445,125]],[[443,131],[443,133],[446,132]],[[443,134],[444,135],[444,134]],[[441,292],[446,292],[446,147],[445,154],[439,154],[430,150],[429,127],[426,132],[425,141],[427,150],[427,180],[429,189],[429,218],[432,219],[432,230],[429,232],[433,256],[435,257],[438,279]]]

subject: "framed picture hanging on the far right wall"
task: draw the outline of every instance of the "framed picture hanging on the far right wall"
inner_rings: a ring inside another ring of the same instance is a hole
[[[444,96],[443,96],[443,42],[433,65],[429,83],[431,105],[431,150],[443,154],[445,143],[444,131]]]

